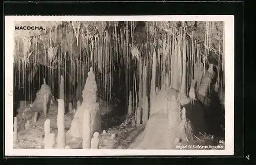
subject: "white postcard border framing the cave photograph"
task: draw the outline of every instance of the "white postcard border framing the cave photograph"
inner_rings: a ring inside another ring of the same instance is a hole
[[[15,21],[224,21],[225,25],[225,149],[224,150],[105,150],[13,149],[13,54]],[[6,156],[168,156],[233,155],[234,150],[234,16],[5,16],[5,155]]]

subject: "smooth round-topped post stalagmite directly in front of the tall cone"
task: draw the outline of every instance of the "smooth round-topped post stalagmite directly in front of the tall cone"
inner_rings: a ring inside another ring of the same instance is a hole
[[[89,109],[83,113],[82,120],[82,148],[90,149],[91,147],[91,115]]]

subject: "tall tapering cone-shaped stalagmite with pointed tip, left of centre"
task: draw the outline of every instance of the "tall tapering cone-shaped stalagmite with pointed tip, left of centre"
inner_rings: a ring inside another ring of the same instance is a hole
[[[83,101],[81,106],[77,109],[74,119],[71,124],[71,128],[68,131],[73,137],[82,137],[82,120],[84,111],[90,111],[90,124],[91,124],[91,136],[93,132],[100,131],[101,129],[101,112],[99,103],[97,101],[97,84],[95,81],[95,74],[92,67],[88,72],[88,78],[86,85],[83,89]],[[90,137],[91,140],[91,137]]]

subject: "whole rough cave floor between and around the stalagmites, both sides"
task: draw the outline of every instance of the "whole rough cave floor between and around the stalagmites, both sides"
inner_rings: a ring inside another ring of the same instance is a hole
[[[131,118],[128,118],[128,124],[125,124],[126,115],[113,112],[113,115],[106,118],[102,117],[101,128],[106,133],[99,132],[99,149],[131,149],[131,146],[136,146],[137,142],[141,141],[141,133],[145,126],[133,127]],[[44,123],[46,119],[50,119],[51,132],[57,136],[57,113],[52,112],[47,117],[40,116],[37,122],[31,123],[30,127],[24,131],[18,132],[18,140],[13,142],[13,148],[19,149],[43,149],[44,148]],[[65,115],[66,132],[71,127],[73,114]],[[112,138],[112,134],[115,137]],[[70,137],[68,137],[70,138]],[[157,144],[157,143],[156,143]],[[67,144],[71,149],[82,149],[82,139],[67,139]],[[194,145],[194,146],[193,146]],[[189,148],[188,146],[193,146]],[[205,149],[204,146],[219,146],[212,149],[224,149],[224,144],[217,144],[211,139],[211,135],[201,133],[200,136],[195,136],[193,140],[182,141],[176,144],[175,148],[163,149],[190,149],[200,150]],[[209,148],[208,148],[209,149]]]

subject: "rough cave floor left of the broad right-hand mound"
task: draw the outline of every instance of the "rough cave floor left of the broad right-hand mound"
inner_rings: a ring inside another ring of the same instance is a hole
[[[66,132],[71,127],[73,115],[65,115]],[[50,119],[51,132],[57,136],[57,114],[48,114],[47,117],[40,116],[37,122],[31,123],[30,127],[24,131],[18,132],[18,140],[13,143],[13,148],[22,149],[42,149],[44,148],[44,123],[46,119]],[[130,124],[125,125],[126,116],[117,114],[112,117],[102,118],[102,130],[99,135],[99,149],[127,149],[136,137],[143,131],[144,126],[132,127]],[[131,119],[130,119],[131,121]],[[112,134],[115,138],[112,139]],[[68,137],[69,138],[69,137]],[[67,139],[67,144],[71,149],[82,149],[82,139]]]

